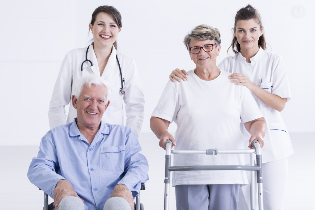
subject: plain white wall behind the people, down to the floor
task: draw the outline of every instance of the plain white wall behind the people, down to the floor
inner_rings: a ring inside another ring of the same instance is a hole
[[[315,2],[300,1],[75,1],[17,0],[0,7],[0,145],[38,145],[49,130],[48,106],[65,54],[86,47],[93,10],[116,7],[123,18],[118,50],[136,61],[146,98],[142,132],[151,132],[150,115],[169,73],[194,67],[182,40],[199,24],[221,32],[227,56],[235,13],[251,3],[262,16],[272,52],[283,56],[292,100],[282,112],[290,132],[315,132]],[[174,130],[174,125],[172,128]]]

